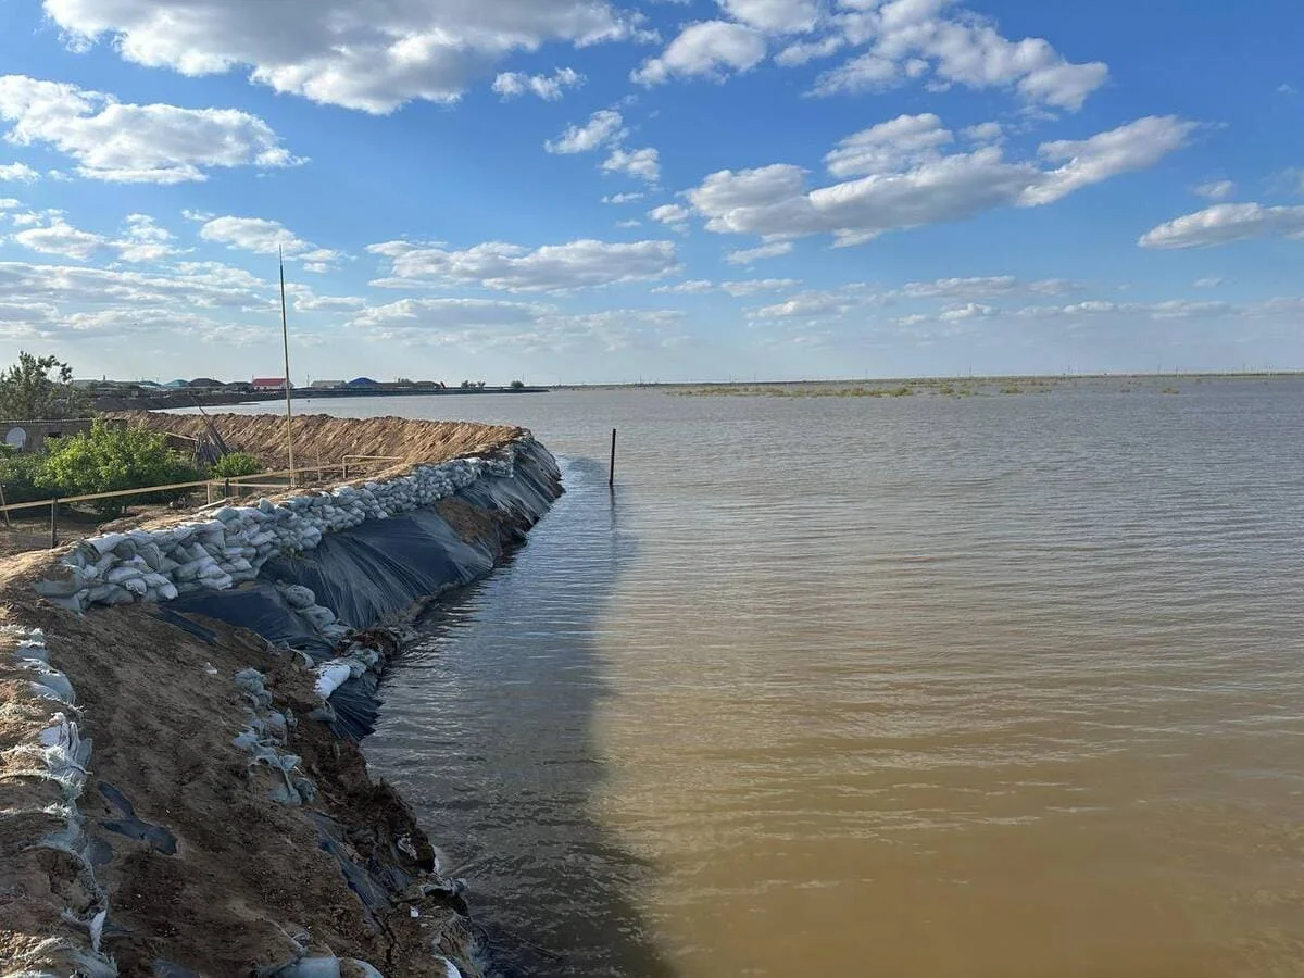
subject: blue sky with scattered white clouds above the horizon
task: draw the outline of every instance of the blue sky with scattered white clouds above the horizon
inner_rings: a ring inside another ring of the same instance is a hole
[[[1304,368],[1297,0],[0,0],[0,361]]]

